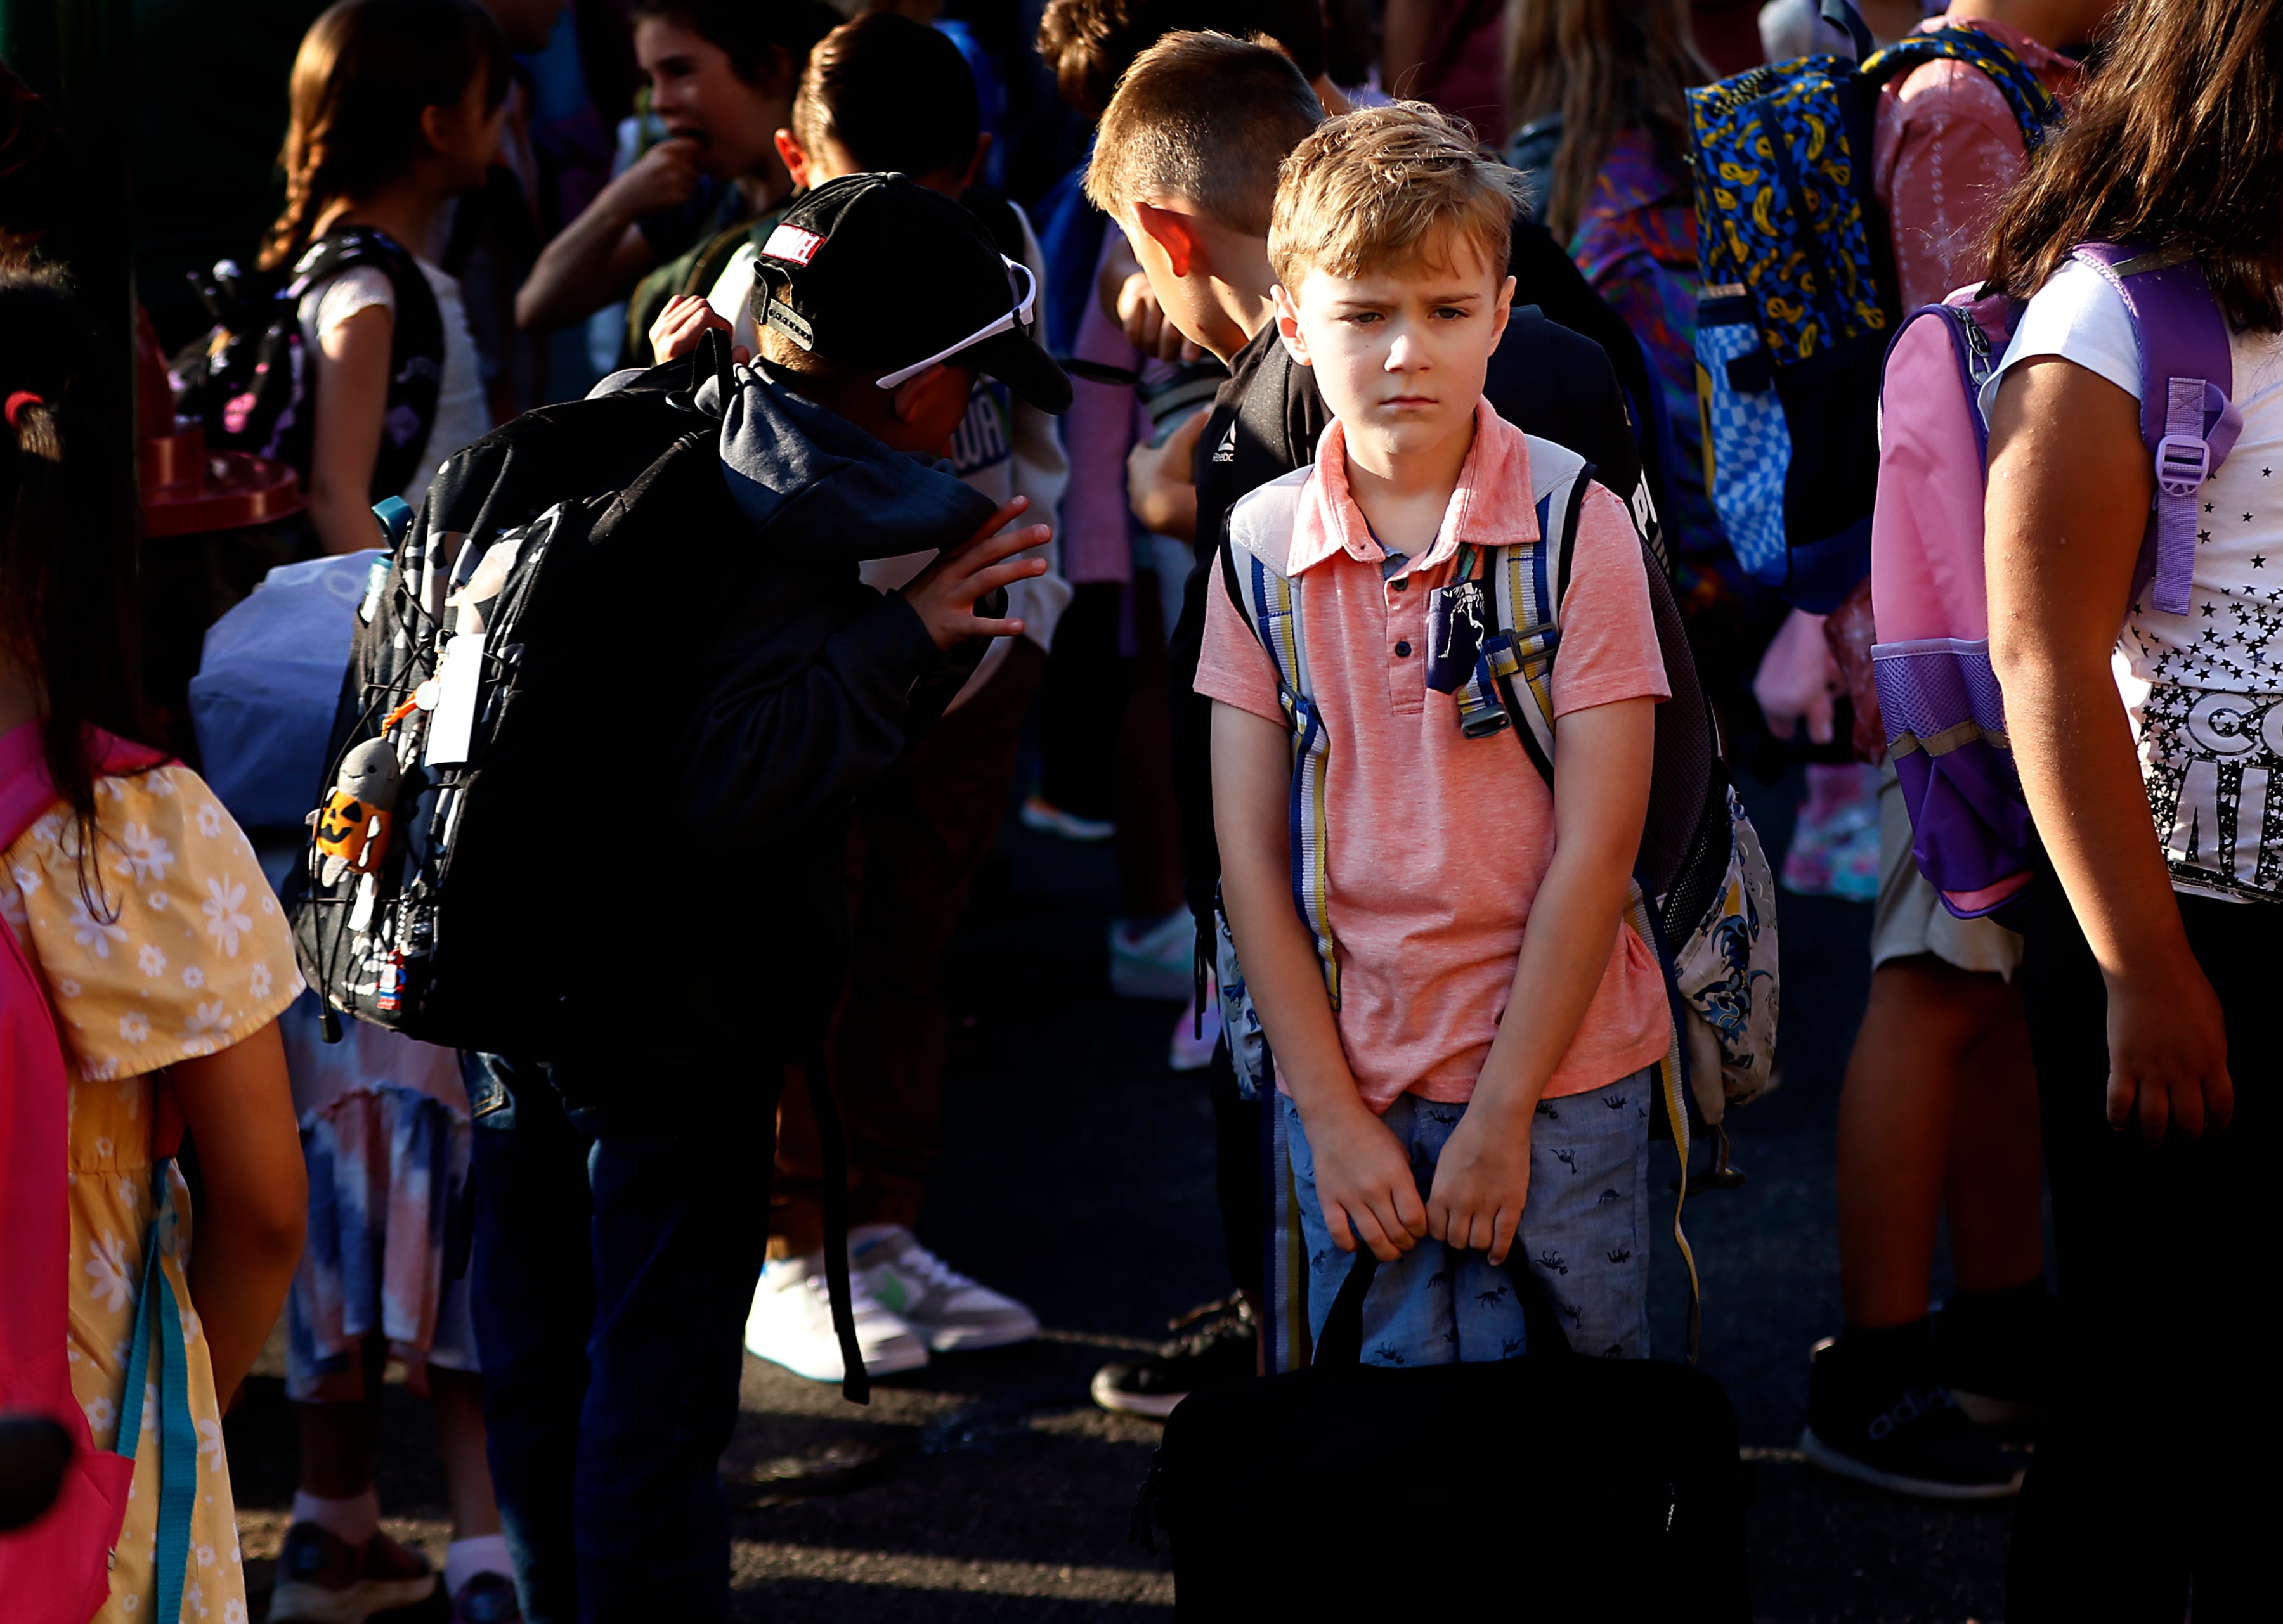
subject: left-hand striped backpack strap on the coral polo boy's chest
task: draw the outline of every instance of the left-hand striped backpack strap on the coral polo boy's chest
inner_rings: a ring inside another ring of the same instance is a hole
[[[1340,1008],[1340,958],[1331,940],[1324,769],[1331,737],[1308,684],[1308,634],[1299,582],[1285,575],[1308,468],[1272,479],[1228,511],[1221,536],[1221,582],[1276,666],[1276,698],[1292,725],[1292,908],[1324,965],[1324,992]]]

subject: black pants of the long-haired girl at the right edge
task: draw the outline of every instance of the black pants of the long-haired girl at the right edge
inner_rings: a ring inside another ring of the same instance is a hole
[[[2014,1624],[2253,1617],[2278,1508],[2260,1154],[2276,1127],[2283,908],[2180,899],[2228,1029],[2235,1122],[2109,1129],[2107,988],[2052,876],[2023,958],[2066,1366],[2014,1519]]]

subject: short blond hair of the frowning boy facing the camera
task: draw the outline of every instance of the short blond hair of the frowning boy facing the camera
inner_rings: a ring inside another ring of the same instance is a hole
[[[1299,294],[1308,271],[1445,271],[1466,246],[1504,276],[1518,194],[1520,176],[1484,157],[1461,119],[1427,103],[1363,107],[1283,162],[1269,269]]]

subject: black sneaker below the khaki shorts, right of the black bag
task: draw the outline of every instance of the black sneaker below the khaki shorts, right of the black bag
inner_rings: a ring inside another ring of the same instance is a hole
[[[1920,1346],[1872,1364],[1826,1337],[1808,1355],[1808,1464],[1922,1501],[2002,1501],[2020,1494],[2020,1457],[1975,1430],[1934,1380]]]

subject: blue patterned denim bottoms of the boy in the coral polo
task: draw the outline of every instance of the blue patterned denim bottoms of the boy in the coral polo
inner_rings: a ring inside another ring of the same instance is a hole
[[[1530,1122],[1530,1195],[1514,1250],[1543,1282],[1573,1350],[1648,1357],[1648,1111],[1655,1070],[1539,1102]],[[1308,1334],[1324,1334],[1356,1254],[1331,1243],[1299,1106],[1276,1095],[1292,1145],[1292,1186],[1308,1243]],[[1399,1095],[1381,1122],[1411,1156],[1420,1200],[1466,1106]],[[1527,1346],[1523,1305],[1486,1252],[1422,1239],[1381,1264],[1363,1298],[1365,1364],[1484,1364]]]

